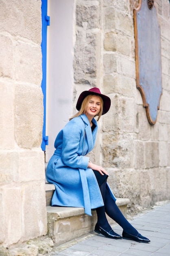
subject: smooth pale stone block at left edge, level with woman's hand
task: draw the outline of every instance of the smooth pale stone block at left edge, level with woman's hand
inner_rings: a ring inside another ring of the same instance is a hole
[[[19,155],[16,151],[5,151],[0,154],[0,185],[18,180]]]

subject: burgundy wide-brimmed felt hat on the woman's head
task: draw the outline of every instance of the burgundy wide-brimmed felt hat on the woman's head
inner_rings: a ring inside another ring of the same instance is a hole
[[[97,88],[97,87],[91,88],[90,90],[84,91],[80,94],[80,96],[78,98],[78,101],[77,101],[77,104],[76,104],[76,109],[78,111],[81,109],[81,104],[82,104],[83,100],[89,94],[94,94],[94,95],[100,96],[102,98],[102,100],[103,100],[102,115],[105,115],[109,111],[109,108],[110,108],[110,105],[111,105],[111,100],[108,96],[106,96],[104,94],[101,94],[99,88]]]

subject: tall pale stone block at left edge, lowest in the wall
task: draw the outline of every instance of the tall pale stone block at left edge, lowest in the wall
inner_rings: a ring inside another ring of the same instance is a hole
[[[17,243],[22,237],[22,191],[20,187],[5,186],[3,188],[5,241],[10,245]]]

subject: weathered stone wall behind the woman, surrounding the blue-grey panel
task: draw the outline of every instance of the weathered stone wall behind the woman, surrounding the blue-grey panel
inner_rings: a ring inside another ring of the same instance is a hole
[[[109,171],[117,197],[129,198],[131,214],[170,199],[170,2],[156,0],[161,29],[163,95],[151,126],[136,88],[133,9],[137,0],[76,2],[74,104],[97,86],[111,98],[99,121],[94,162]],[[99,153],[100,152],[100,153]]]

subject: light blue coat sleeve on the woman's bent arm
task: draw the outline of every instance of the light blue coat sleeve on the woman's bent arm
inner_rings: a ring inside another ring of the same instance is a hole
[[[62,160],[72,168],[87,169],[89,157],[82,156],[85,126],[74,118],[63,128]],[[79,146],[82,144],[82,151]],[[79,154],[78,154],[79,151]],[[80,154],[81,153],[81,154]]]

